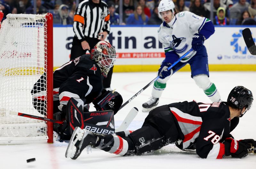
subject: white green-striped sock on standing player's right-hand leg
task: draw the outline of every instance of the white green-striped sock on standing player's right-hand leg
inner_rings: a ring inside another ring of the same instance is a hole
[[[196,85],[204,90],[204,93],[212,100],[212,102],[220,101],[220,93],[214,83],[212,83],[208,75],[200,74],[193,77]]]

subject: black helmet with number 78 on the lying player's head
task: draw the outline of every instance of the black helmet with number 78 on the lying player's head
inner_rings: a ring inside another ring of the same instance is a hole
[[[253,96],[252,92],[244,86],[234,87],[228,95],[227,102],[238,109],[246,108],[246,111],[252,107]],[[245,112],[246,112],[245,111]],[[244,113],[245,113],[244,112]],[[244,114],[241,114],[242,117]]]

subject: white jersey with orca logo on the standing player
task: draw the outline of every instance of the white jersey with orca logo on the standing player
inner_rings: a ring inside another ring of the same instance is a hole
[[[199,33],[209,19],[200,17],[192,12],[183,11],[174,16],[170,23],[163,22],[158,29],[158,39],[163,43],[164,51],[174,51],[180,57],[192,48],[192,38]],[[190,52],[180,62],[187,62],[196,55],[196,51]]]

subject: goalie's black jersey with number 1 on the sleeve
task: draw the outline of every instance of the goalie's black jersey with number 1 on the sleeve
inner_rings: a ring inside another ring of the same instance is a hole
[[[67,105],[71,97],[86,99],[86,104],[91,103],[102,91],[102,79],[100,67],[90,59],[90,55],[82,55],[75,60],[65,63],[53,72],[53,112],[58,112],[60,104]],[[35,104],[44,104],[46,83],[45,75],[34,85],[31,91]],[[36,107],[41,113],[45,106]],[[41,109],[41,110],[39,110]]]

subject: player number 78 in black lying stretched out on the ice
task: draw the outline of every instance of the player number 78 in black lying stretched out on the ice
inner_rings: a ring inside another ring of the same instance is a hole
[[[175,143],[181,150],[195,150],[201,158],[242,158],[253,139],[235,140],[230,134],[246,111],[252,107],[252,92],[236,86],[227,102],[209,104],[196,101],[172,103],[156,107],[146,117],[142,127],[134,132],[95,134],[76,127],[71,136],[66,158],[76,159],[87,146],[121,156],[140,155]]]

